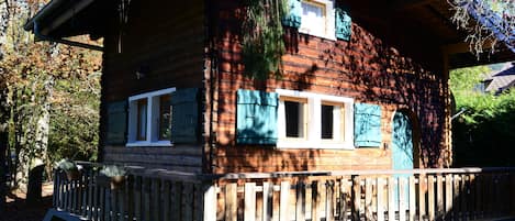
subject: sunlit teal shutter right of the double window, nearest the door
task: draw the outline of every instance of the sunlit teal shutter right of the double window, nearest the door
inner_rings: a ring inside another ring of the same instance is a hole
[[[380,146],[381,107],[368,103],[354,106],[354,144],[355,146]]]

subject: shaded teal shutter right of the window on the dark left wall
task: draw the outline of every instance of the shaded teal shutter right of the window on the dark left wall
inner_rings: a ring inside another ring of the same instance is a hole
[[[177,89],[171,93],[171,142],[197,143],[199,137],[199,89]]]

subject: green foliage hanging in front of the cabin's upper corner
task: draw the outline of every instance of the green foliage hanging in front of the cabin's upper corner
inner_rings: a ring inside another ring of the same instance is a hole
[[[284,0],[246,0],[247,18],[243,25],[243,62],[250,78],[281,76],[281,57],[286,52],[281,18],[287,13]]]

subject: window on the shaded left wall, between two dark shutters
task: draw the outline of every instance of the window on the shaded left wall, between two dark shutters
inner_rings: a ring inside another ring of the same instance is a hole
[[[128,98],[127,146],[170,146],[171,92],[175,88]]]

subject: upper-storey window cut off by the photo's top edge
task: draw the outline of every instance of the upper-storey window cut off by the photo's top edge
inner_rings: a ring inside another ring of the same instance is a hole
[[[336,40],[333,0],[302,0],[299,32]]]

